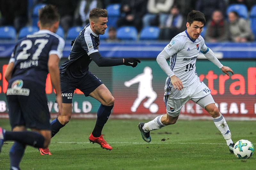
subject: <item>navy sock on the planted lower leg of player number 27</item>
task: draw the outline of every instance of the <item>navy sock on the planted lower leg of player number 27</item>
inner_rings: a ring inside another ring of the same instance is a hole
[[[20,169],[20,161],[22,159],[22,156],[24,154],[26,145],[21,144],[19,142],[14,142],[10,149],[10,169]]]

